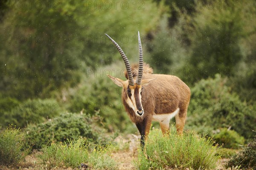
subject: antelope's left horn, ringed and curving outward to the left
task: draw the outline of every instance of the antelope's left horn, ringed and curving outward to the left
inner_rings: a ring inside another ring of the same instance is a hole
[[[126,57],[125,53],[122,51],[122,48],[111,37],[109,37],[108,34],[105,34],[105,35],[113,42],[114,45],[116,45],[117,50],[119,51],[119,53],[122,56],[122,59],[125,62],[125,67],[126,67],[126,71],[127,71],[128,78],[129,78],[129,85],[134,86],[134,79],[132,76],[131,66],[130,66],[128,58]]]

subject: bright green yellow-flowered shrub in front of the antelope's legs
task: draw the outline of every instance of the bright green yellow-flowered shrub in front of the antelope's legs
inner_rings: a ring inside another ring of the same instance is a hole
[[[214,169],[219,157],[215,156],[216,146],[210,138],[196,136],[194,132],[185,132],[183,136],[174,131],[170,136],[162,136],[153,131],[145,145],[146,154],[139,150],[135,167],[140,170],[151,169]]]

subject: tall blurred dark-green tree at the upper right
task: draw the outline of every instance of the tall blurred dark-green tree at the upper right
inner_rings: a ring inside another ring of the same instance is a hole
[[[201,74],[191,77],[192,81],[214,77],[220,72],[225,76],[235,73],[237,64],[243,57],[241,40],[248,36],[241,20],[245,13],[241,12],[243,11],[241,5],[241,2],[235,3],[229,0],[223,3],[223,6],[229,10],[216,6],[214,10],[203,8],[198,12],[199,15],[193,17],[192,24],[195,28],[190,36],[201,36],[201,39],[192,44],[189,63],[197,75]],[[238,21],[234,21],[233,18],[237,18]],[[253,27],[247,29],[254,30]]]

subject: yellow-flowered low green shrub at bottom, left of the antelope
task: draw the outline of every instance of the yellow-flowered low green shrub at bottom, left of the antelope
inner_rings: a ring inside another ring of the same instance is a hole
[[[90,150],[87,139],[68,140],[66,142],[52,143],[44,147],[42,154],[38,155],[40,164],[49,165],[48,169],[56,167],[76,168],[81,163],[87,164],[90,169],[117,170],[117,163],[111,158],[111,147],[100,146]]]

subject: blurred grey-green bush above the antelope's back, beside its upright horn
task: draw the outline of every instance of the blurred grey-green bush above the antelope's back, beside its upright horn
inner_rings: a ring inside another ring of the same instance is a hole
[[[165,1],[165,3],[170,2]],[[172,2],[175,3],[175,2]],[[172,74],[178,77],[183,76],[181,73],[184,65],[187,67],[189,56],[188,42],[184,40],[188,32],[186,19],[180,11],[180,19],[173,28],[169,28],[168,16],[163,15],[157,31],[151,31],[147,34],[145,47],[148,50],[148,57],[144,61],[150,64],[155,74]],[[143,46],[143,49],[145,48]],[[185,71],[184,71],[185,72]],[[188,82],[186,82],[188,83]]]

